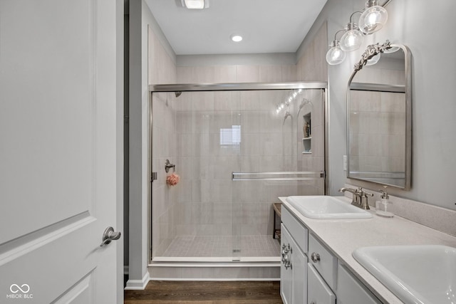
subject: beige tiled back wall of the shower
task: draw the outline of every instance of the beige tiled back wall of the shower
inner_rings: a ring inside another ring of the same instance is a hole
[[[177,80],[296,81],[296,68],[297,65],[181,66],[177,67]],[[316,80],[311,77],[305,80]],[[324,193],[323,181],[231,180],[232,172],[323,171],[321,92],[312,90],[303,95],[315,107],[312,132],[321,135],[321,139],[314,140],[313,153],[306,157],[301,153],[301,132],[296,131],[302,130],[304,124],[296,117],[296,104],[289,108],[293,118],[285,122],[284,112],[275,112],[277,103],[288,96],[289,92],[284,91],[182,93],[177,105],[177,151],[182,164],[175,214],[177,235],[272,234],[271,202],[276,197]],[[220,130],[234,125],[241,126],[241,143],[221,145]]]

